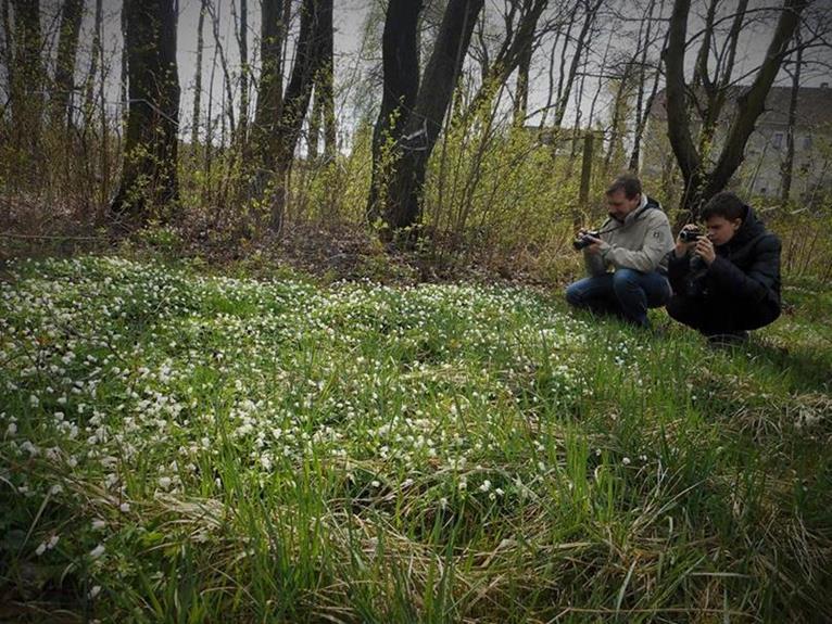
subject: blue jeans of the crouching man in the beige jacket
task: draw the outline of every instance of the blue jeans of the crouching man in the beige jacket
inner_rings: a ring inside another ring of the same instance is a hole
[[[658,271],[617,269],[570,284],[566,301],[595,314],[614,314],[633,324],[650,327],[647,308],[664,306],[670,294],[670,282]]]

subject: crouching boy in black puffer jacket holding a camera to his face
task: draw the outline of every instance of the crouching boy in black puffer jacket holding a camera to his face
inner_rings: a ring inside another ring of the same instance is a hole
[[[669,254],[667,311],[713,341],[739,342],[780,316],[780,240],[733,193],[714,195],[702,217],[707,233],[680,233]]]

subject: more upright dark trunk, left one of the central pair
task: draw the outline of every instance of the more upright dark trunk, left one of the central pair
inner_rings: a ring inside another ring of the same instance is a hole
[[[416,31],[421,11],[421,0],[390,0],[385,17],[381,38],[383,88],[381,109],[373,129],[373,179],[367,201],[367,218],[370,222],[381,216],[386,203],[386,174],[382,168],[385,145],[398,141],[404,130],[407,113],[416,104],[419,90],[419,49]]]

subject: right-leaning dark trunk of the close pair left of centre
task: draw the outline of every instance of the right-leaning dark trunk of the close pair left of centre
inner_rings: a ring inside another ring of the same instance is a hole
[[[270,219],[270,228],[274,231],[279,231],[282,227],[292,157],[310,106],[313,82],[324,59],[323,49],[327,35],[323,30],[325,25],[331,24],[332,0],[303,0],[294,66],[286,88],[280,118],[275,128],[273,157],[276,187]]]

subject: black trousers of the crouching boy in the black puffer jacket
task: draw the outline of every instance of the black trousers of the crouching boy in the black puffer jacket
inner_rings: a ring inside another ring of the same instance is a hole
[[[718,335],[765,327],[780,316],[780,306],[769,301],[748,304],[726,295],[690,297],[675,294],[667,304],[667,314],[705,335]]]

